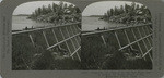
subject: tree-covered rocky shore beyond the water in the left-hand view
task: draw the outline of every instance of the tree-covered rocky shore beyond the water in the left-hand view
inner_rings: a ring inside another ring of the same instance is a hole
[[[28,18],[55,24],[80,22],[81,11],[73,4],[59,2],[36,9]]]

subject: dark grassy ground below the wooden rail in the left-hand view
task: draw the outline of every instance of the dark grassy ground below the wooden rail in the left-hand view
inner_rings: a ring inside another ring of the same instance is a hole
[[[65,27],[61,28],[65,37],[68,37]],[[59,41],[63,40],[58,28],[54,29]],[[78,30],[78,29],[77,29]],[[77,30],[73,30],[75,34]],[[57,43],[51,29],[44,30],[48,43],[50,46]],[[71,34],[71,31],[69,30]],[[79,31],[77,31],[79,32]],[[32,35],[35,46],[32,43],[28,35]],[[74,42],[74,39],[73,39]],[[81,63],[78,58],[72,60],[68,55],[66,43],[60,44],[62,49],[56,47],[51,50],[46,50],[47,44],[42,30],[17,34],[12,36],[12,69],[13,70],[74,70],[81,68]],[[68,46],[71,50],[70,40]],[[67,53],[67,54],[66,54]]]

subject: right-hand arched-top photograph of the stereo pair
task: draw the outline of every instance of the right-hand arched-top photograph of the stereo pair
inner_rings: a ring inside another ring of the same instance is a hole
[[[152,17],[138,2],[99,1],[82,12],[82,68],[152,69]]]

